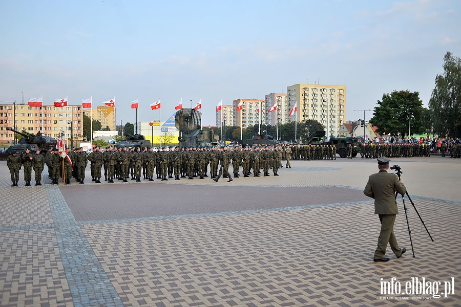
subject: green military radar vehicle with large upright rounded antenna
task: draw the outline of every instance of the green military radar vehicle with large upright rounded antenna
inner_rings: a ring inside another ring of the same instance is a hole
[[[175,126],[179,130],[179,148],[218,145],[219,136],[210,128],[200,126],[202,113],[192,108],[176,112]]]

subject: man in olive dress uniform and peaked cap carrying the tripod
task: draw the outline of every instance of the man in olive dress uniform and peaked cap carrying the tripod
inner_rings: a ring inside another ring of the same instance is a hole
[[[405,248],[400,248],[394,235],[395,215],[399,213],[397,202],[395,201],[395,191],[405,194],[403,181],[399,180],[395,174],[388,173],[389,159],[382,157],[378,159],[378,173],[372,174],[368,178],[368,183],[363,191],[365,195],[374,199],[374,214],[378,214],[381,222],[380,236],[378,237],[378,248],[374,252],[373,261],[389,261],[384,257],[386,254],[387,243],[397,258],[405,252]]]

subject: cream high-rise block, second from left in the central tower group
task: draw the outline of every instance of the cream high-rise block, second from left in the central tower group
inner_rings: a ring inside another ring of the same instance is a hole
[[[242,109],[237,111],[241,104]],[[261,113],[261,124],[266,124],[266,103],[263,99],[236,99],[233,101],[234,125],[245,129],[249,126],[259,124],[259,112]],[[227,125],[227,124],[226,124]]]

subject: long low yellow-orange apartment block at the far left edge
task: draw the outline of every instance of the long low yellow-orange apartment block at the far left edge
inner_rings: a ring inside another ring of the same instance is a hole
[[[67,131],[70,138],[72,130],[74,139],[81,139],[83,134],[83,113],[80,104],[65,107],[46,104],[43,107],[0,104],[0,141],[13,143],[14,133],[7,130],[7,127],[14,128],[14,116],[16,116],[18,131],[26,130],[30,134],[40,132],[44,136],[53,138],[57,138],[61,131]]]

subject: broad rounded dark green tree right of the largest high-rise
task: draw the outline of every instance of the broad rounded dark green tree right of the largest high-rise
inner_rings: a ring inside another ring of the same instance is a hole
[[[376,131],[381,134],[390,134],[393,137],[408,134],[421,134],[423,124],[423,102],[420,93],[409,91],[393,91],[390,95],[383,94],[382,101],[373,109],[370,123],[378,127]],[[410,122],[410,127],[408,126]]]

